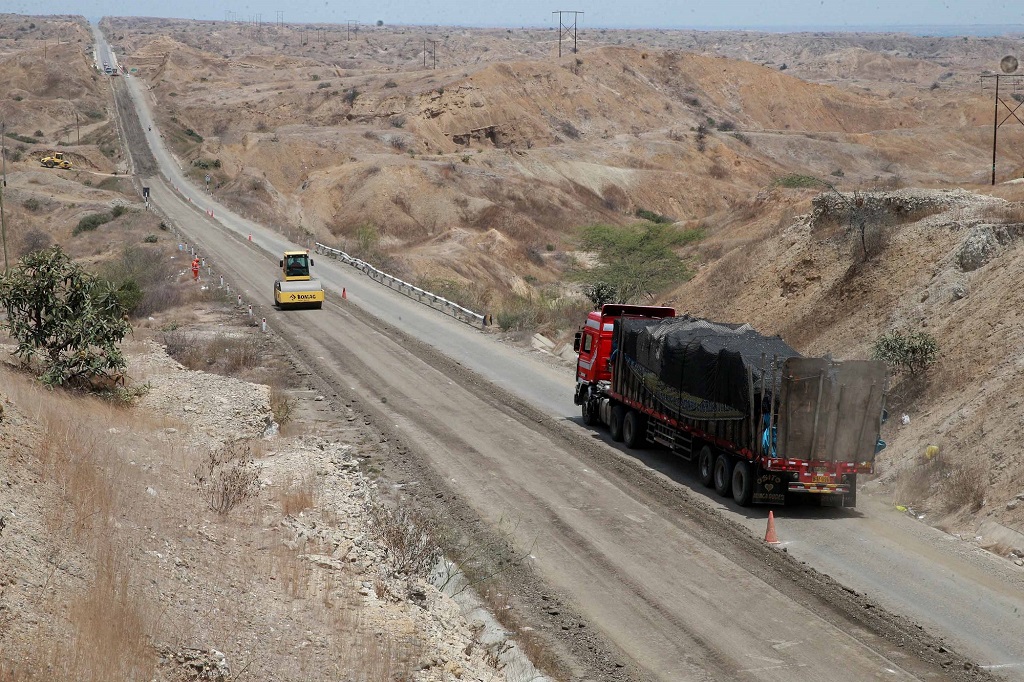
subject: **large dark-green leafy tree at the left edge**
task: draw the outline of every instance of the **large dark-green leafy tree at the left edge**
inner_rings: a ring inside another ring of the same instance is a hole
[[[124,370],[119,344],[131,324],[117,288],[59,246],[32,252],[0,275],[0,304],[17,341],[14,354],[39,360],[44,383],[83,386]]]

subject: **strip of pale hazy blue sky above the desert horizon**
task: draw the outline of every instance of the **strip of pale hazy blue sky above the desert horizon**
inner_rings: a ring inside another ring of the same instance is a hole
[[[581,10],[580,28],[799,28],[1024,24],[1020,0],[0,0],[0,12],[174,16],[274,23],[557,26],[551,12]]]

